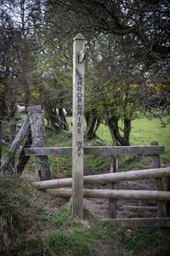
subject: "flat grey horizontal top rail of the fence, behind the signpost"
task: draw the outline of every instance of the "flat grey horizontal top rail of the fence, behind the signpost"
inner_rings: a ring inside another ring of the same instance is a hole
[[[119,155],[119,154],[139,154],[139,155],[154,155],[164,154],[163,146],[104,146],[104,147],[84,147],[84,154],[99,154],[99,155]],[[71,147],[62,148],[25,148],[26,155],[62,155],[72,154]]]

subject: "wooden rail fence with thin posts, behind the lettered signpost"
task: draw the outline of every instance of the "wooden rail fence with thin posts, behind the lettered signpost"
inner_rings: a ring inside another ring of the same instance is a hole
[[[72,148],[26,148],[26,155],[48,156],[48,155],[70,155]],[[111,156],[111,171],[105,173],[83,177],[83,184],[112,184],[111,189],[83,189],[83,197],[87,198],[106,198],[109,199],[110,219],[103,221],[112,221],[122,226],[134,227],[170,227],[170,218],[167,218],[167,201],[170,201],[170,192],[167,191],[167,180],[170,177],[170,167],[161,168],[160,154],[164,153],[164,148],[157,143],[151,143],[146,147],[84,147],[84,154],[99,154]],[[153,162],[152,169],[116,172],[117,168],[112,168],[112,160],[121,154],[137,154],[150,156]],[[145,178],[155,178],[156,186],[159,190],[123,190],[116,189],[116,183],[127,180],[139,180]],[[44,190],[50,194],[61,197],[71,197],[72,178],[51,179],[34,183],[37,189]],[[159,218],[116,218],[117,199],[136,199],[136,200],[155,200],[157,201]]]

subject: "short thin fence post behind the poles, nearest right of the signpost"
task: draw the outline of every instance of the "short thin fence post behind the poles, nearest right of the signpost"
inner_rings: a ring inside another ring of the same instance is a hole
[[[119,158],[118,156],[111,155],[111,166],[110,172],[117,172],[119,165]],[[110,184],[110,189],[116,189],[116,183]],[[116,199],[109,199],[109,215],[110,218],[116,218]]]

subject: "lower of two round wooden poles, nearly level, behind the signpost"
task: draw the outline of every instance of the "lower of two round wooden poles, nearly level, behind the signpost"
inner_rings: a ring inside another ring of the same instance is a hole
[[[51,195],[71,197],[72,189],[47,189]],[[85,198],[170,200],[170,192],[158,190],[83,189]]]

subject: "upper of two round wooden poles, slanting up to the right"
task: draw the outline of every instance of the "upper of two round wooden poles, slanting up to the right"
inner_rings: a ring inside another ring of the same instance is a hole
[[[115,183],[151,177],[170,177],[170,167],[129,172],[114,172],[83,177],[84,184]],[[37,189],[57,189],[72,186],[72,178],[53,179],[34,183]]]

